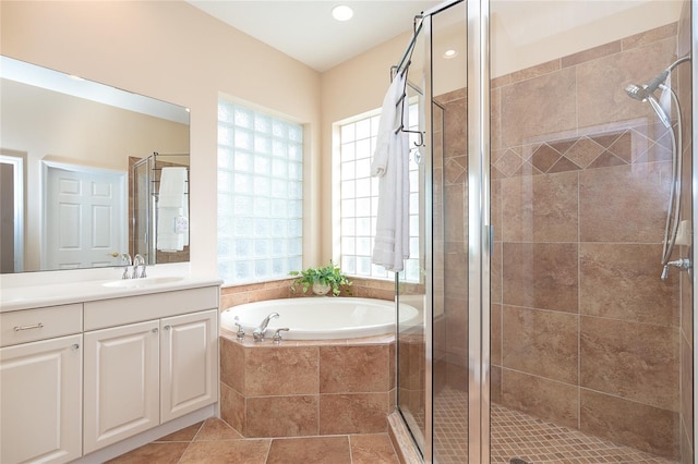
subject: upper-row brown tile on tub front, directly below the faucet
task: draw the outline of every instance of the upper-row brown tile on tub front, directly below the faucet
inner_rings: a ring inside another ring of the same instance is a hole
[[[316,394],[316,347],[246,349],[244,391],[251,395]]]

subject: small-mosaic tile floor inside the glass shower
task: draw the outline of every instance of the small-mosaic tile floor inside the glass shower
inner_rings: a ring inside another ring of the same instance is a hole
[[[468,399],[465,392],[444,389],[434,399],[434,454],[437,464],[462,464],[468,455]],[[529,415],[492,405],[492,464],[512,457],[529,463],[675,464],[628,447],[590,437]]]

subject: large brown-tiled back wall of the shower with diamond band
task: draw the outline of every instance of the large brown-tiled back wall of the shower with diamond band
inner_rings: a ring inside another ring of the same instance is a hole
[[[690,337],[678,272],[659,278],[671,142],[623,89],[676,38],[672,24],[494,80],[491,168],[493,401],[673,459]]]

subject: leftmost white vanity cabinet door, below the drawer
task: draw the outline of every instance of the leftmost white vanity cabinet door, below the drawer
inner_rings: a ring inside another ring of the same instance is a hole
[[[0,462],[81,456],[81,345],[71,335],[0,350]]]

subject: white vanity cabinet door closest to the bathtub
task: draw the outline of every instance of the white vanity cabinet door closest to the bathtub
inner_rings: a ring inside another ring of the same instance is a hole
[[[171,420],[216,402],[218,310],[160,322],[160,418]]]

